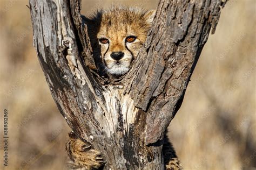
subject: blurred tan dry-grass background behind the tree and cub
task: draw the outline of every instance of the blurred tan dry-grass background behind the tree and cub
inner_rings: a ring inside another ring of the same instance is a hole
[[[83,14],[112,4],[156,8],[158,2],[82,1]],[[70,131],[53,101],[32,46],[28,0],[0,0],[0,169],[66,169]],[[256,2],[231,0],[221,12],[188,84],[169,136],[184,169],[256,169]],[[9,113],[3,166],[3,110]]]

